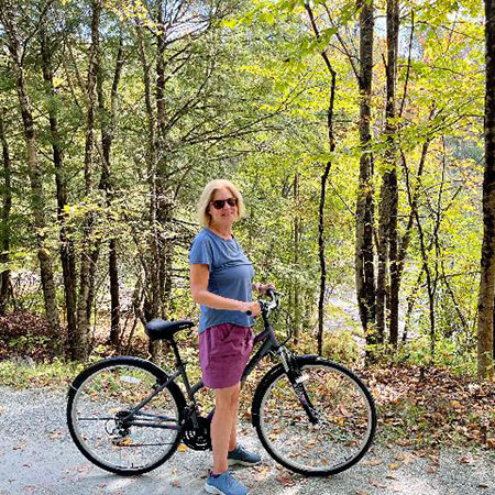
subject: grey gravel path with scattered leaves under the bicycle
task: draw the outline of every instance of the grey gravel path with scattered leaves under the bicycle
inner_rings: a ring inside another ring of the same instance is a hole
[[[373,448],[356,466],[328,479],[305,479],[279,469],[254,430],[242,441],[263,453],[263,465],[237,471],[252,495],[479,495],[495,494],[494,455],[444,449],[438,459],[399,447]],[[205,494],[209,452],[177,452],[136,477],[109,474],[86,461],[65,422],[65,394],[0,387],[0,494]],[[380,435],[380,433],[378,433]]]

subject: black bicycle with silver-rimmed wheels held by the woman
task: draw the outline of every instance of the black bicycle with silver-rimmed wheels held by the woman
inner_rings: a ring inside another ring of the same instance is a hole
[[[361,380],[341,364],[318,355],[295,355],[280,343],[270,321],[279,294],[260,301],[264,329],[242,375],[271,355],[279,363],[258,383],[252,400],[252,422],[268,454],[290,471],[326,476],[360,461],[373,441],[376,409]],[[152,320],[151,340],[165,339],[175,354],[172,374],[139,358],[109,358],[82,371],[68,391],[67,422],[80,452],[103,470],[138,475],[169,459],[180,443],[211,449],[210,422],[198,411],[175,333],[194,327],[189,320]],[[182,377],[186,397],[176,380]]]

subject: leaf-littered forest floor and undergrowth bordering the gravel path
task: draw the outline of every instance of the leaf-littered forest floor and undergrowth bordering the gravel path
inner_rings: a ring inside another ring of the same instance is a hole
[[[106,341],[106,336],[92,336],[90,362],[122,353],[147,358],[144,333],[138,332],[125,352]],[[51,336],[46,321],[33,314],[16,312],[0,318],[0,385],[14,388],[68,386],[88,362],[68,361],[65,340],[65,336]],[[309,340],[299,341],[298,352],[308,352]],[[194,329],[183,334],[179,345],[183,358],[190,363],[190,378],[198,380]],[[324,349],[328,352],[328,346]],[[477,447],[495,457],[495,382],[462,376],[448,366],[425,366],[410,361],[398,363],[382,359],[358,369],[352,360],[345,362],[349,356],[338,361],[354,369],[371,388],[378,407],[380,442],[427,451],[443,446]],[[169,367],[172,355],[165,351],[158,364]],[[241,398],[244,419],[250,419],[250,399],[258,380],[272,365],[270,361],[264,362],[249,378]],[[212,397],[207,394],[201,402],[209,407]]]

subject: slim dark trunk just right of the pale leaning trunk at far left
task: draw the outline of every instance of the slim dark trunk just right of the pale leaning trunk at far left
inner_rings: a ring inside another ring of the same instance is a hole
[[[44,30],[41,31],[41,52],[43,61],[43,80],[46,85],[46,96],[48,99],[55,98],[55,87],[53,82],[52,69],[52,50],[48,45],[48,38]],[[55,168],[55,186],[57,195],[57,219],[59,224],[61,239],[61,263],[64,278],[65,309],[67,316],[67,334],[69,342],[77,333],[76,320],[76,256],[74,252],[74,242],[70,239],[70,232],[65,224],[65,206],[67,205],[67,179],[64,172],[63,148],[58,133],[58,119],[56,106],[48,105],[50,133],[52,140],[53,164]]]

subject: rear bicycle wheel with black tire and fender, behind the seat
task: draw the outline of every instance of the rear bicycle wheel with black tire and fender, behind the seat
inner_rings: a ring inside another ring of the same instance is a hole
[[[82,371],[68,391],[67,425],[79,451],[99,468],[138,475],[163,464],[180,443],[186,402],[172,382],[134,418],[154,427],[119,424],[125,411],[163,384],[167,374],[138,358],[110,358]],[[158,428],[176,426],[176,429]]]

